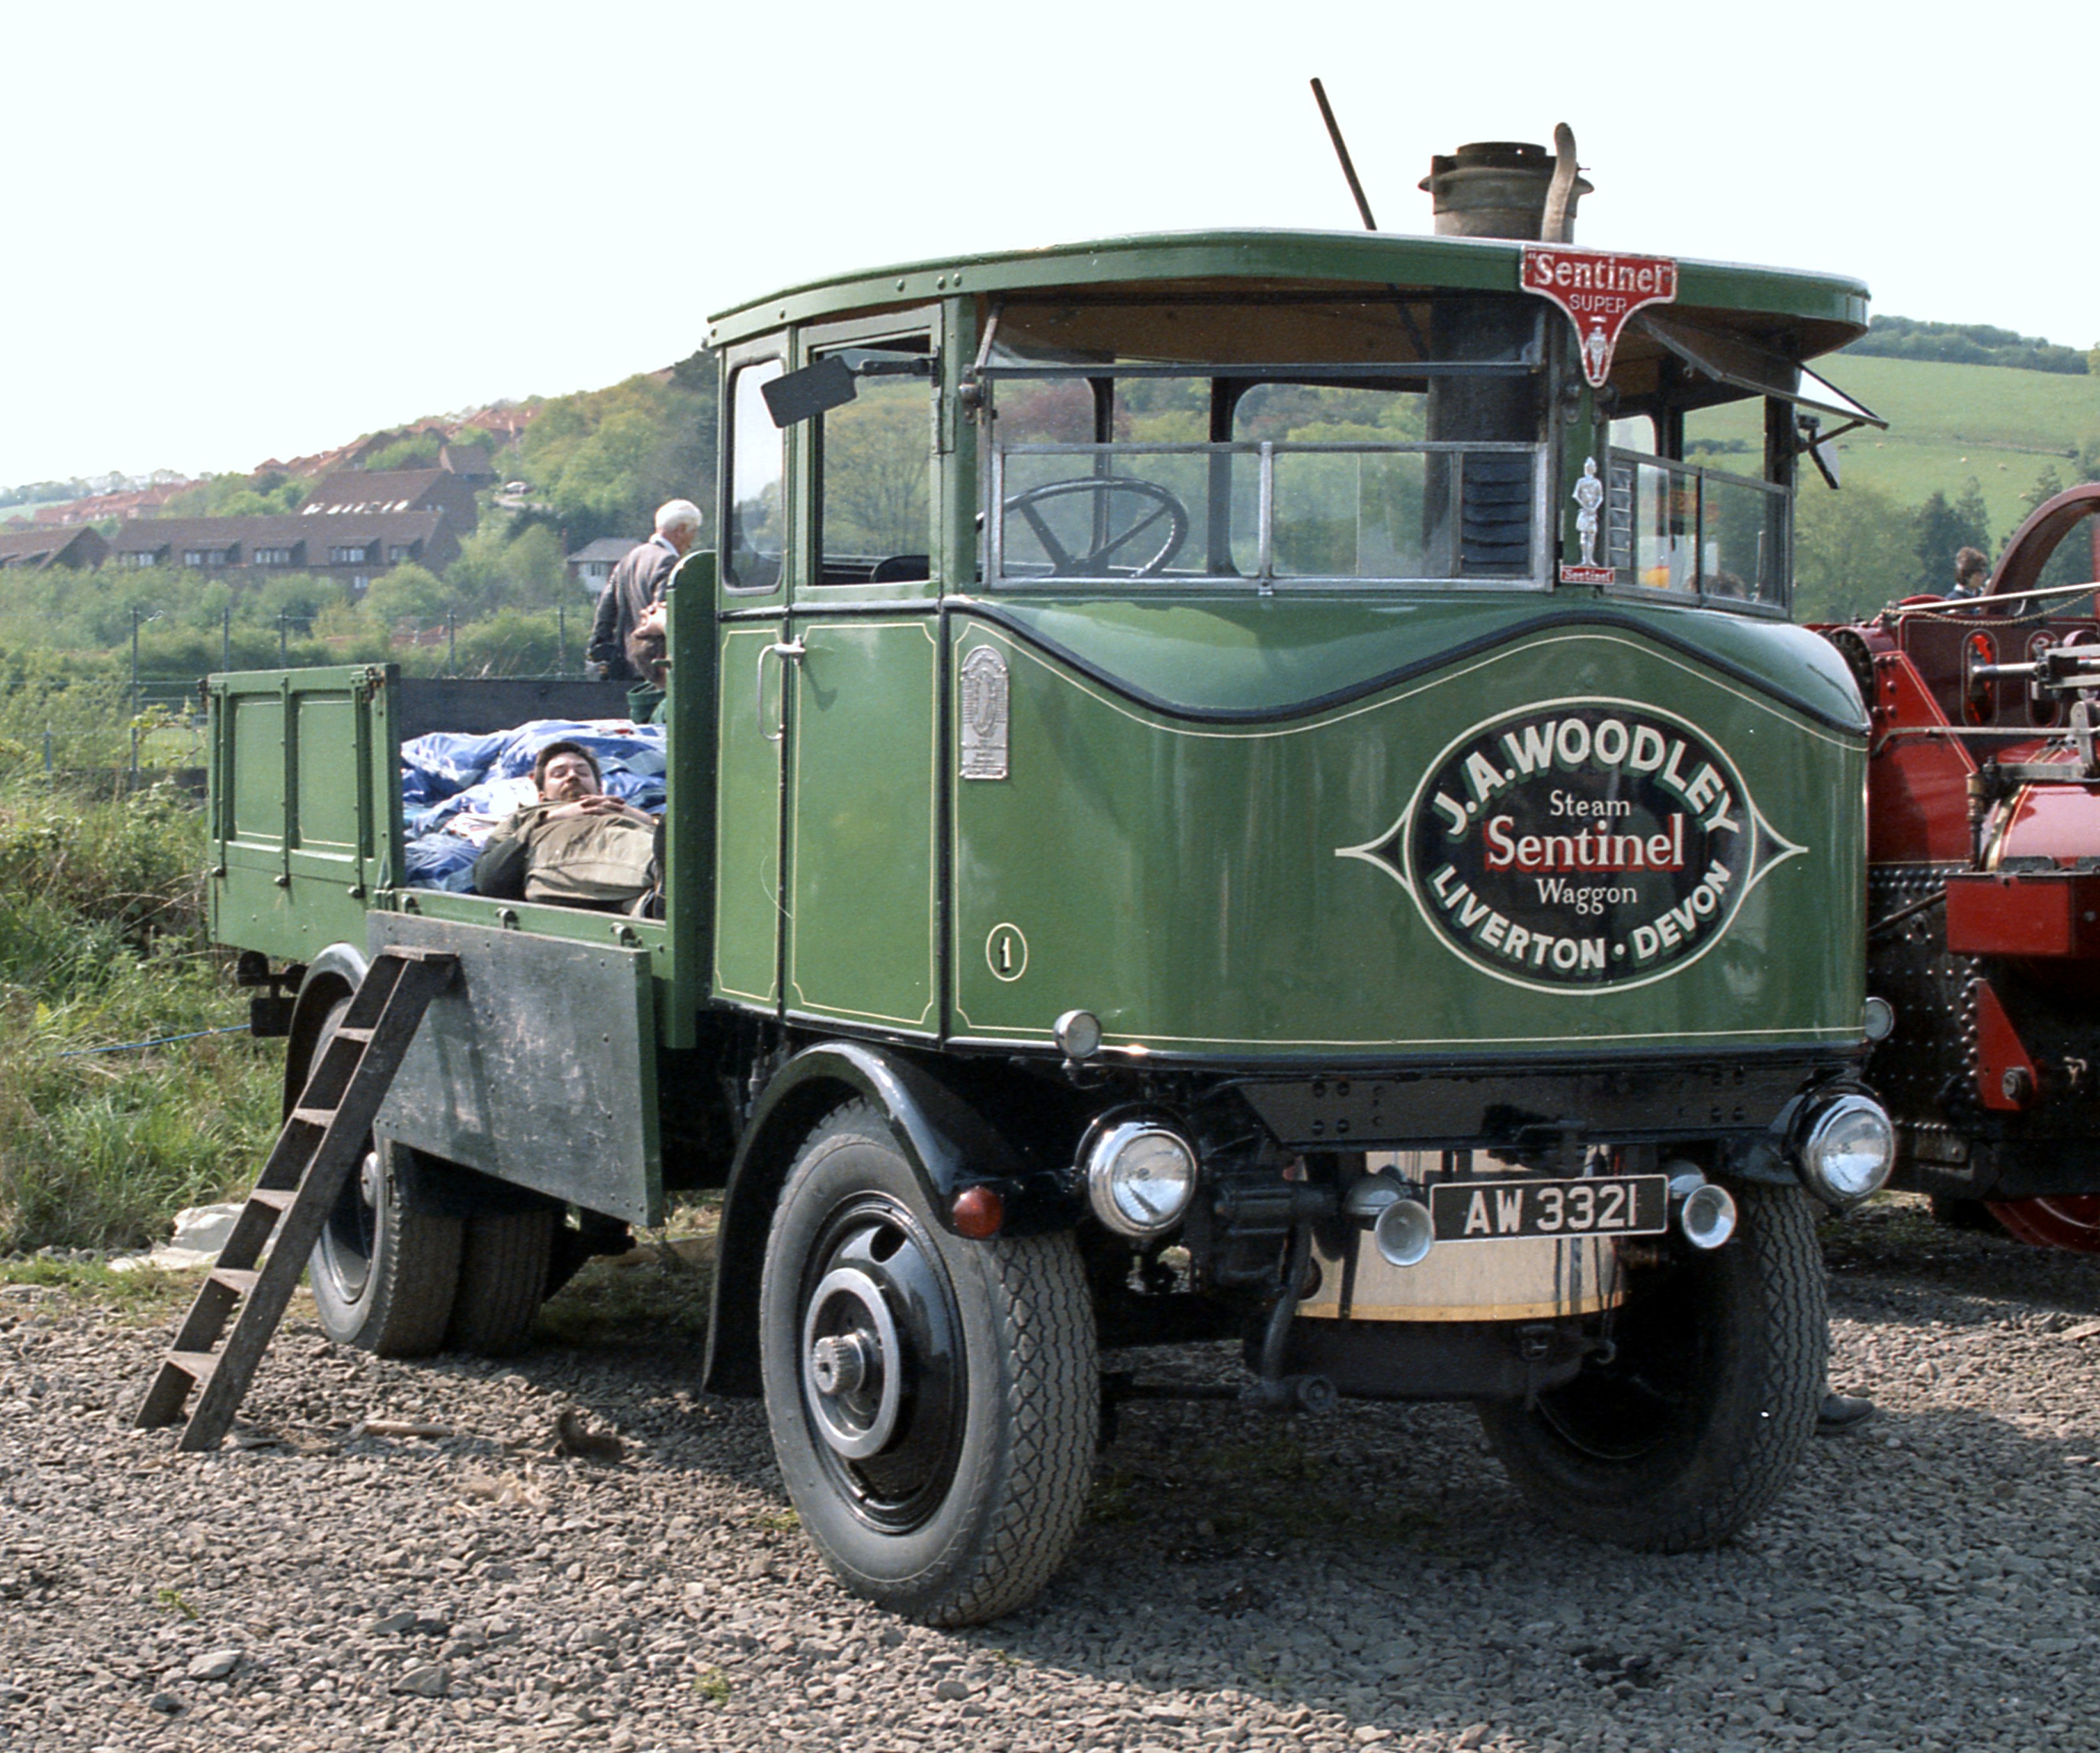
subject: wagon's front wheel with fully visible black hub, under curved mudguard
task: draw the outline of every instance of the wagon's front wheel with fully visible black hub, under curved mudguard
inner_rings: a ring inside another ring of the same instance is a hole
[[[970,1625],[1050,1581],[1100,1421],[1069,1234],[947,1234],[888,1123],[855,1102],[781,1188],[758,1346],[788,1495],[853,1593]]]

